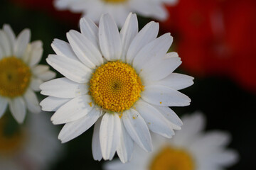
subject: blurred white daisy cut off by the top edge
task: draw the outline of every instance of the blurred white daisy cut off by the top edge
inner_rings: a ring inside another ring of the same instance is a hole
[[[117,26],[124,24],[129,12],[164,21],[168,12],[164,4],[174,5],[178,0],[55,0],[55,7],[83,13],[98,23],[100,16],[110,13]]]

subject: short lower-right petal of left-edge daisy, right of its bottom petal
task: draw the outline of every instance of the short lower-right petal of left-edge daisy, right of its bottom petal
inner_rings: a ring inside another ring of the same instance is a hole
[[[29,88],[27,89],[26,93],[24,94],[24,99],[26,102],[26,106],[28,107],[28,111],[31,111],[32,113],[41,112],[38,98],[36,97],[36,94],[31,89]]]

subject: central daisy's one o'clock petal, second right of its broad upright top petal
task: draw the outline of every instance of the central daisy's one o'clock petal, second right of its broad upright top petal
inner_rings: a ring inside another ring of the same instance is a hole
[[[127,63],[132,64],[134,57],[146,44],[156,39],[159,32],[159,23],[151,21],[134,37],[127,51]]]

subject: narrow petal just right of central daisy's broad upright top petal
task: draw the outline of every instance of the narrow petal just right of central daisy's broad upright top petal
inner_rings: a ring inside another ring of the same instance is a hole
[[[131,44],[135,35],[137,35],[138,29],[139,29],[139,26],[138,26],[137,15],[129,13],[129,16],[125,21],[124,26],[122,27],[122,30],[120,30],[120,38],[122,41],[121,60],[123,62],[126,62],[125,58],[127,56],[129,45]]]

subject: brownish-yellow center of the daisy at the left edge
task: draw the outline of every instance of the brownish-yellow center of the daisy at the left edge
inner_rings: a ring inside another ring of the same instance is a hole
[[[0,60],[0,96],[14,98],[22,96],[28,88],[31,70],[16,57]]]

